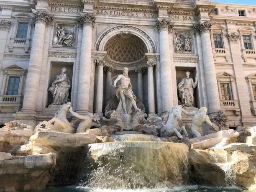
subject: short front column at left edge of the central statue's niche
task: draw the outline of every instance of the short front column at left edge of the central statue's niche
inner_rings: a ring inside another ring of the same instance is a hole
[[[96,111],[102,117],[102,103],[103,103],[103,67],[104,61],[95,61],[97,65],[97,90],[96,90]]]

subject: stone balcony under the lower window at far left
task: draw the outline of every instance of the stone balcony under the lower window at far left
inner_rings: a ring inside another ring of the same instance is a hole
[[[18,111],[21,106],[22,95],[0,95],[0,110],[3,107],[13,107]]]

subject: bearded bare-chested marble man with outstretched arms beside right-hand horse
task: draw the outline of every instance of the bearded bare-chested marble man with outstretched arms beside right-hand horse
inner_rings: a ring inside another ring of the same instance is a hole
[[[192,125],[191,125],[192,138],[198,138],[203,136],[203,130],[202,130],[203,123],[207,123],[215,131],[220,130],[218,125],[215,125],[210,121],[210,118],[206,114],[207,108],[205,107],[200,108],[199,111],[192,111],[192,112],[187,112],[186,110],[182,109],[182,112],[185,115],[193,116]]]

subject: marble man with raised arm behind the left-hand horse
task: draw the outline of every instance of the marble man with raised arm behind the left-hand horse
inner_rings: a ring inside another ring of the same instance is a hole
[[[77,127],[77,133],[84,133],[91,127],[101,127],[100,118],[97,114],[88,113],[87,115],[79,115],[73,111],[72,107],[69,107],[69,112],[80,121]],[[92,120],[97,121],[97,123],[92,122]]]

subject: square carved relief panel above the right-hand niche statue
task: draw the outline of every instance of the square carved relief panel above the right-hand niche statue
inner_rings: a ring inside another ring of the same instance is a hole
[[[176,32],[174,34],[174,50],[177,53],[191,52],[191,36],[189,32]]]

